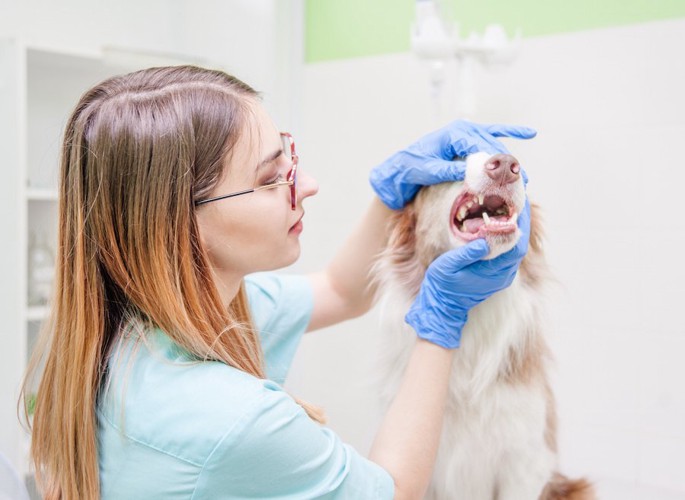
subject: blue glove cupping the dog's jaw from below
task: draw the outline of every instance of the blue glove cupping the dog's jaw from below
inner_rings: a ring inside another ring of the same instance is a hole
[[[450,250],[428,266],[421,289],[405,321],[422,339],[447,349],[459,347],[469,310],[509,285],[528,251],[530,205],[518,219],[521,238],[514,248],[491,260],[484,239]]]

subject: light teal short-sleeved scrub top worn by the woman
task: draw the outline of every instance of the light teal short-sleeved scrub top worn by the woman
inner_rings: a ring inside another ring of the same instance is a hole
[[[309,281],[264,273],[246,289],[270,380],[193,360],[159,330],[117,343],[97,407],[102,498],[393,498],[388,472],[280,385],[311,316]]]

